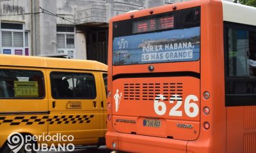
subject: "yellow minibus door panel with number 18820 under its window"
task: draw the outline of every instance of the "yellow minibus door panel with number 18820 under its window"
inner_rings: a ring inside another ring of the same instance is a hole
[[[47,70],[49,133],[74,136],[72,142],[59,140],[49,143],[87,145],[98,142],[101,91],[96,74],[92,71]]]

